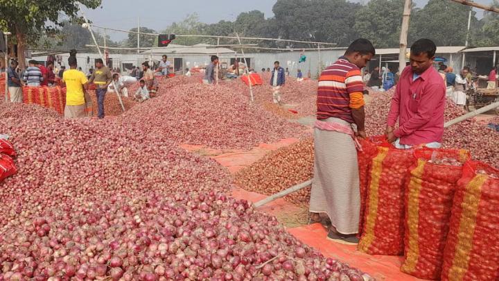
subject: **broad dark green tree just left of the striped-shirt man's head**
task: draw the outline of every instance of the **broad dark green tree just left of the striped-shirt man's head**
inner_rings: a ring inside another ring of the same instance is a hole
[[[278,0],[272,11],[283,38],[348,46],[358,37],[353,15],[359,8],[345,0]]]

